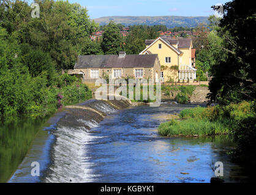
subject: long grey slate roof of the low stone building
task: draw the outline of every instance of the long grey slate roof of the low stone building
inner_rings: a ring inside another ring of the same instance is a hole
[[[150,55],[79,55],[74,68],[152,68],[158,59],[157,54]]]

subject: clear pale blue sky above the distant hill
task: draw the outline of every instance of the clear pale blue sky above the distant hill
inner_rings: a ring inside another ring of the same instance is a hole
[[[69,0],[88,9],[91,19],[102,16],[209,16],[211,5],[228,0]]]

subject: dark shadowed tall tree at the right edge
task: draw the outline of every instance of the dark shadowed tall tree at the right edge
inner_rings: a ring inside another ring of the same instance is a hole
[[[222,104],[255,100],[256,39],[252,30],[256,26],[255,4],[242,0],[227,2],[219,26],[219,36],[224,38],[224,58],[216,59],[211,68],[209,98]]]

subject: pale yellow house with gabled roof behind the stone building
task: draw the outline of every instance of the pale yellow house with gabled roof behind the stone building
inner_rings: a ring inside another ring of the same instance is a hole
[[[158,54],[162,82],[181,82],[196,79],[196,69],[192,67],[190,38],[172,39],[159,37],[156,40],[146,40],[146,48],[140,55]]]

